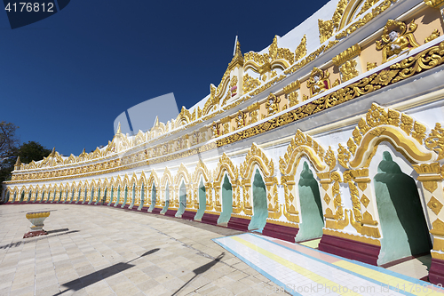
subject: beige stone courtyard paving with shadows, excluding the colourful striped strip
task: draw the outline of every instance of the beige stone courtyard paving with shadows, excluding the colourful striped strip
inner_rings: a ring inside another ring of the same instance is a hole
[[[49,234],[23,239],[30,226],[26,213],[47,210]],[[278,290],[211,240],[240,233],[107,206],[3,204],[0,296],[263,295]]]

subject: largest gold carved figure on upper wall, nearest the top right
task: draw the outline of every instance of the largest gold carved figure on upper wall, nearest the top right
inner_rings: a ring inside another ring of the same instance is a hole
[[[377,51],[382,51],[383,63],[419,46],[413,36],[416,28],[415,20],[408,25],[400,20],[387,20],[382,40],[377,41]]]

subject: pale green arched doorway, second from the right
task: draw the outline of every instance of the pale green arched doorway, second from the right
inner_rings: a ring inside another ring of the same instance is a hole
[[[324,219],[322,215],[321,194],[319,184],[314,179],[313,172],[304,162],[298,183],[301,222],[296,241],[302,242],[322,236]]]

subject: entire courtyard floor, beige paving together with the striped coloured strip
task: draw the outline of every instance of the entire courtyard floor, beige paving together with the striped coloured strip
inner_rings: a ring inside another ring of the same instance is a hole
[[[23,239],[25,214],[44,210],[48,236]],[[107,206],[3,204],[0,296],[442,295],[393,271],[418,276],[427,258],[387,270],[314,250],[318,243]]]

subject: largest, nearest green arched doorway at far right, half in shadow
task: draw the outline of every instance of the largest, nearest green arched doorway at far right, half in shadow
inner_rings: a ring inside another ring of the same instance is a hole
[[[416,182],[384,151],[374,178],[381,221],[381,252],[377,264],[430,252],[432,243]]]

